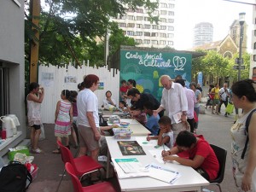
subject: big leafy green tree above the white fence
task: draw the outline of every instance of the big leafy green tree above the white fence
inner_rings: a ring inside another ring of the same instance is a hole
[[[32,1],[32,0],[31,0]],[[148,0],[45,0],[48,9],[42,9],[40,16],[40,38],[32,36],[30,3],[26,1],[26,58],[29,57],[29,42],[39,41],[40,61],[52,64],[67,62],[70,58],[79,61],[91,59],[91,49],[96,47],[95,38],[103,37],[107,29],[113,29],[109,20],[125,15],[126,8],[144,6],[152,21],[157,3]]]

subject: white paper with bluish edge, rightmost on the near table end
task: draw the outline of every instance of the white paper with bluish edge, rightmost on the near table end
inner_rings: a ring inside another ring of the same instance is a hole
[[[148,176],[158,179],[160,181],[166,182],[166,183],[171,183],[173,184],[178,177],[180,177],[180,173],[176,172],[171,169],[164,168],[162,166],[158,166],[156,164],[149,164],[146,166],[148,169]]]

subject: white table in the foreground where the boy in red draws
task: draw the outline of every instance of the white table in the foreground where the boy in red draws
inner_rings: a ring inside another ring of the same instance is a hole
[[[131,137],[131,141],[135,141],[137,137]],[[143,139],[146,137],[143,137]],[[143,150],[147,155],[129,155],[124,156],[122,155],[119,145],[117,141],[113,137],[106,137],[107,143],[108,143],[108,162],[107,162],[107,177],[109,172],[109,160],[110,155],[111,158],[130,158],[134,157],[139,160],[143,166],[146,166],[150,163],[156,163],[160,166],[164,166],[166,168],[170,168],[172,170],[175,170],[177,172],[181,173],[181,177],[177,179],[177,181],[173,184],[165,183],[160,180],[151,178],[151,177],[131,177],[131,178],[123,178],[119,179],[119,171],[121,170],[119,167],[116,167],[117,171],[117,177],[119,180],[119,186],[121,188],[121,191],[137,191],[137,192],[146,192],[146,191],[161,191],[161,192],[177,192],[177,191],[201,191],[201,186],[206,186],[209,184],[209,182],[204,178],[201,177],[201,175],[198,172],[195,172],[195,170],[189,166],[182,166],[178,165],[177,163],[171,163],[166,162],[164,164],[163,162],[160,163],[160,152],[163,150],[163,148],[154,148],[154,145],[156,145],[156,141],[154,141],[154,144],[151,144],[151,146],[147,144],[142,144]],[[142,138],[140,139],[142,140]],[[166,148],[167,149],[167,148]],[[154,153],[159,154],[156,158],[152,154],[152,151]],[[122,170],[121,170],[122,171]]]

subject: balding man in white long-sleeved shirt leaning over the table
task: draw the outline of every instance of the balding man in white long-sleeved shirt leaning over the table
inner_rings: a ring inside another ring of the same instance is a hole
[[[160,107],[154,110],[156,116],[160,111],[166,109],[166,115],[172,119],[172,131],[174,141],[180,131],[190,131],[189,123],[187,122],[188,100],[181,84],[173,82],[168,75],[162,75],[160,82],[164,87]],[[181,122],[176,122],[173,118],[177,113],[181,113]]]

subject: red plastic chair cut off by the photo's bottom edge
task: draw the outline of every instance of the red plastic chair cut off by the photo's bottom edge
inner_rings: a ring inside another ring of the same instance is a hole
[[[113,188],[113,185],[109,182],[96,183],[83,187],[79,181],[79,178],[75,175],[73,166],[69,162],[65,164],[65,168],[72,178],[74,192],[116,192],[116,190]]]

